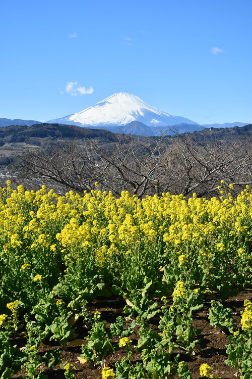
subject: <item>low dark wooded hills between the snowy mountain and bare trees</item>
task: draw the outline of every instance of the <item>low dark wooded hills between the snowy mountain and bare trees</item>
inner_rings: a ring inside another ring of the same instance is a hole
[[[179,136],[192,136],[196,141],[217,141],[220,144],[228,143],[232,140],[247,141],[252,140],[252,124],[245,126],[235,126],[229,128],[205,128],[201,131],[191,133],[181,133]],[[83,138],[95,139],[99,146],[108,148],[111,144],[121,141],[127,144],[129,139],[139,143],[155,144],[158,136],[143,136],[135,134],[113,133],[104,129],[91,129],[77,125],[39,123],[34,125],[10,125],[0,127],[0,173],[4,174],[9,165],[18,159],[25,151],[36,149],[57,149],[62,147],[65,140],[81,140]],[[172,144],[178,138],[176,134],[164,136],[164,144]]]

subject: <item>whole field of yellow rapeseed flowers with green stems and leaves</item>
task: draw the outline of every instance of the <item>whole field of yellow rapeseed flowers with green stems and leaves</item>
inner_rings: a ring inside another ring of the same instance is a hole
[[[249,186],[233,197],[232,184],[222,181],[220,197],[210,200],[169,193],[138,199],[125,191],[115,198],[95,188],[59,196],[44,185],[37,192],[13,190],[10,181],[0,187],[0,378],[21,369],[23,377],[42,378],[44,367],[54,366],[76,377],[61,351],[81,322],[87,337],[80,362],[100,367],[100,377],[189,379],[175,352],[200,351],[193,317],[212,296],[211,325],[229,328],[226,363],[249,379],[251,302],[245,301],[241,327],[221,305],[251,287]],[[113,297],[124,302],[123,316],[108,325],[91,305]],[[154,318],[157,329],[150,326]],[[22,350],[12,343],[17,336]],[[43,355],[48,339],[60,348]],[[108,366],[119,349],[124,357]],[[207,363],[199,374],[219,377]]]

